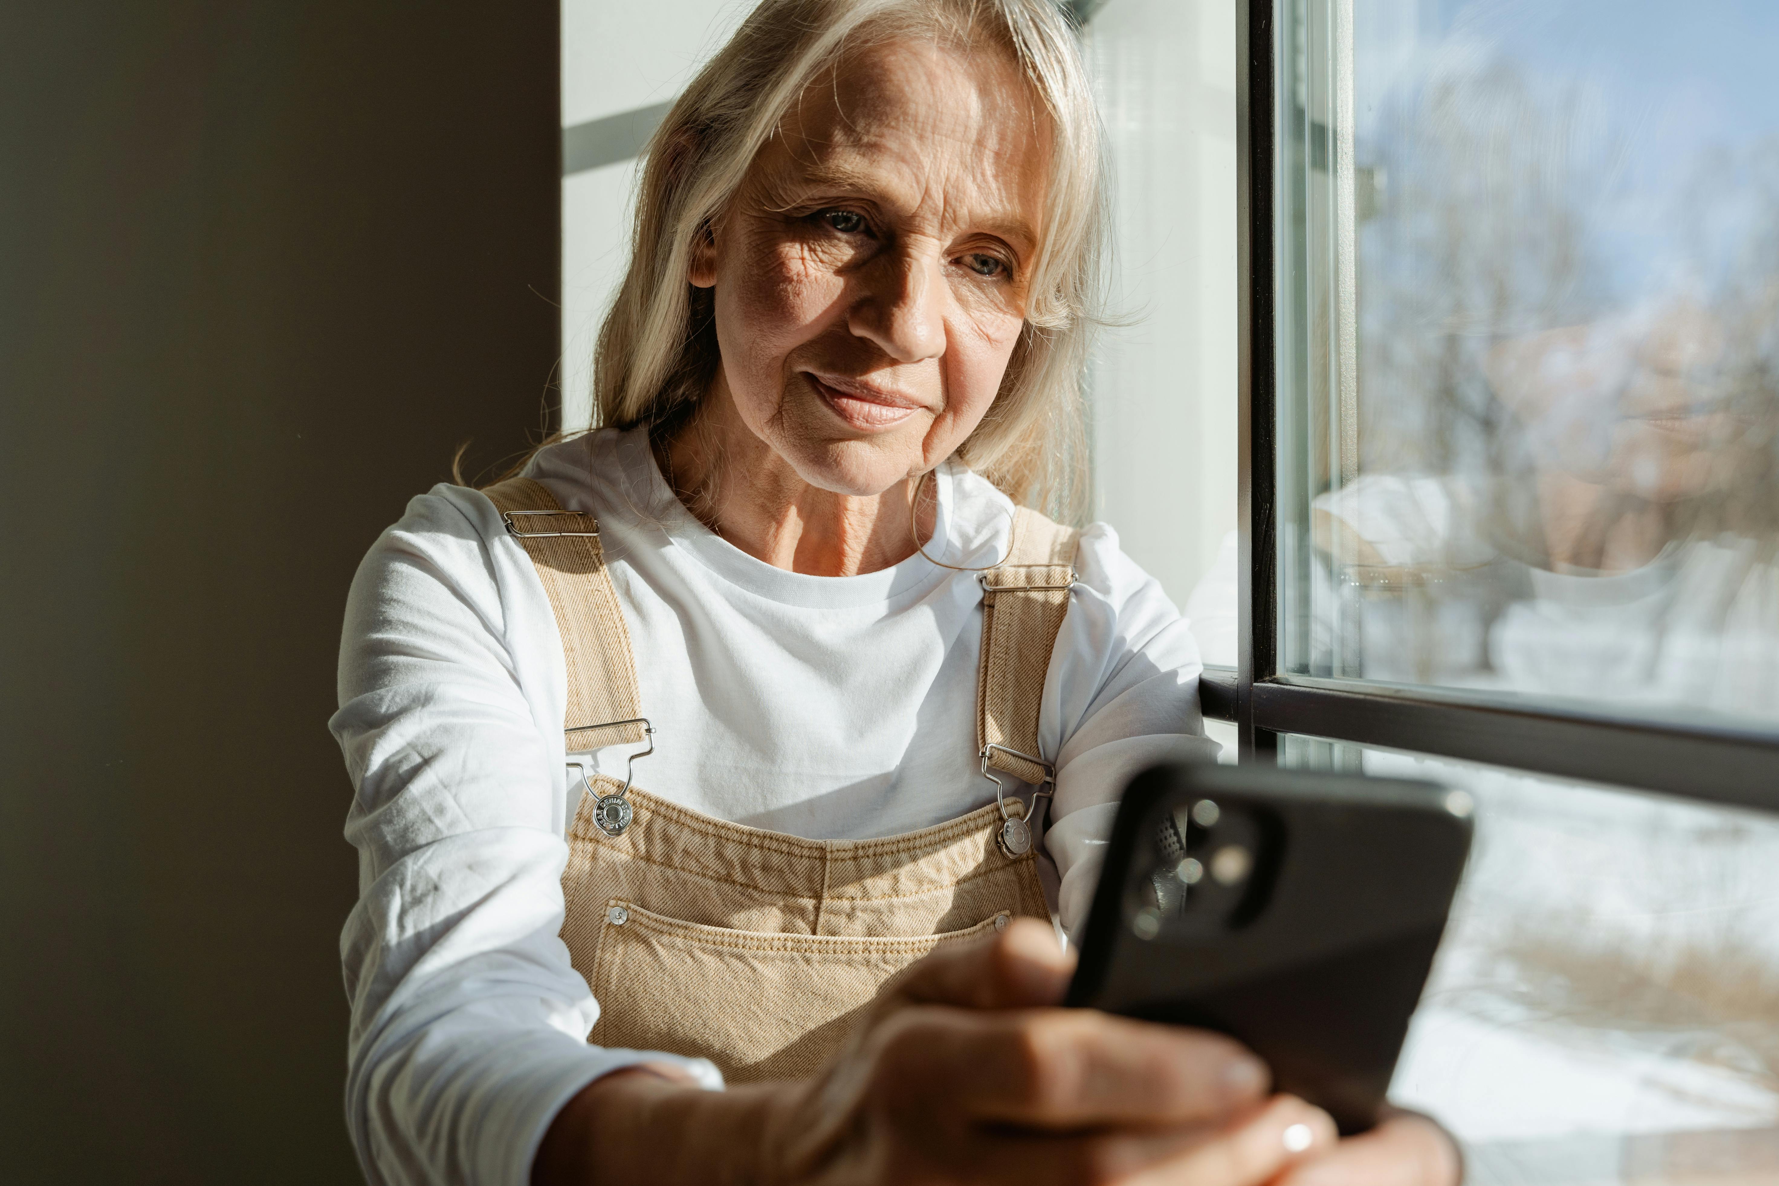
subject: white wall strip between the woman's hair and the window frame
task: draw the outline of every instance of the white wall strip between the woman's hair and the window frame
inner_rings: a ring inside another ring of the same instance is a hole
[[[1176,605],[1235,530],[1235,0],[1110,0],[1089,59],[1119,284],[1092,370],[1096,517]]]

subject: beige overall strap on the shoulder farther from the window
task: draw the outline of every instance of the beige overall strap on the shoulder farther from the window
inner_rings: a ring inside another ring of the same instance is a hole
[[[555,610],[568,665],[562,720],[568,752],[642,741],[637,660],[630,653],[612,574],[605,569],[598,521],[562,510],[555,496],[530,478],[507,478],[482,493],[500,510],[507,533],[532,558]]]

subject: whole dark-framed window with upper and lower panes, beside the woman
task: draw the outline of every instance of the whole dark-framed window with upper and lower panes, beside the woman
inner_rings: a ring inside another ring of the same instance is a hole
[[[1770,1181],[1779,9],[1238,7],[1206,711],[1477,798],[1395,1083],[1471,1181]]]

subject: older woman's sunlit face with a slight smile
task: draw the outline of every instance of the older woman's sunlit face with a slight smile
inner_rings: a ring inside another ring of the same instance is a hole
[[[811,485],[945,461],[1025,322],[1048,121],[1000,53],[891,43],[790,114],[697,254],[740,420]]]

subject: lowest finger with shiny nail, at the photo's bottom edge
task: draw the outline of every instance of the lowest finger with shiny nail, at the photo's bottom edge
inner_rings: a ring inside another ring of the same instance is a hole
[[[1290,1138],[1286,1136],[1290,1134]],[[1103,1186],[1260,1186],[1336,1142],[1320,1108],[1279,1095],[1228,1127],[1042,1136],[984,1136],[971,1150],[978,1182]]]

